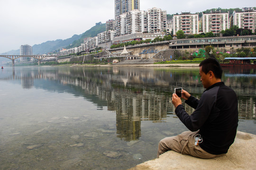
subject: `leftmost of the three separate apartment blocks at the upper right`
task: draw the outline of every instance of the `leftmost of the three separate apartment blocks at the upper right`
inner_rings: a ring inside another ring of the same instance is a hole
[[[182,12],[173,17],[173,31],[182,30],[184,34],[199,34],[199,15],[190,12]]]

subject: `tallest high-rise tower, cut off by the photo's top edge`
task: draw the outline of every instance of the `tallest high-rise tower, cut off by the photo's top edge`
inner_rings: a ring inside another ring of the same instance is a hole
[[[139,1],[140,0],[115,0],[115,20],[119,15],[126,12],[134,9],[140,10]]]

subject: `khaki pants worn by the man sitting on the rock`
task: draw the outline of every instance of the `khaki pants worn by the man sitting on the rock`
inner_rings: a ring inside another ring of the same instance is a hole
[[[178,153],[192,155],[198,158],[214,158],[220,155],[214,155],[204,151],[199,144],[195,145],[194,136],[199,131],[185,131],[178,136],[165,137],[158,144],[157,158],[160,154],[173,150]]]

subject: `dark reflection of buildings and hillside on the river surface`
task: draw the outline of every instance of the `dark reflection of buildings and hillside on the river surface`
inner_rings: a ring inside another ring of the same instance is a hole
[[[95,102],[98,109],[107,106],[116,112],[117,136],[125,141],[141,137],[141,121],[165,122],[167,113],[174,114],[170,103],[174,88],[183,87],[197,98],[204,91],[198,68],[38,68],[13,74],[4,78],[20,79],[23,88],[34,86],[36,79],[45,79],[46,85],[37,88],[51,90],[47,84],[50,80],[56,83],[55,90],[65,86],[68,93]],[[226,71],[222,80],[238,94],[239,119],[256,120],[255,70]],[[192,113],[191,107],[184,107]]]

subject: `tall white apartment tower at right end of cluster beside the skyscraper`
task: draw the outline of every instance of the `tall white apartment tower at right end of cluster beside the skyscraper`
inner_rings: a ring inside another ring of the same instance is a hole
[[[160,8],[148,9],[148,33],[161,33],[166,30],[166,10]]]

